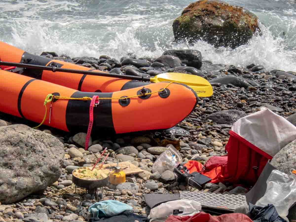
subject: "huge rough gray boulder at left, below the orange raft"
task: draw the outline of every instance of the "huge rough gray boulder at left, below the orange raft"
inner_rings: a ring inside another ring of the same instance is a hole
[[[62,173],[64,146],[22,124],[0,127],[0,202],[11,204],[46,189]]]

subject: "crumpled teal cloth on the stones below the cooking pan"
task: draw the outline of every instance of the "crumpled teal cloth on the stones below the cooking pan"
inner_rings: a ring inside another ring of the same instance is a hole
[[[93,217],[112,217],[118,215],[126,210],[132,210],[128,204],[122,203],[117,200],[103,200],[96,202],[89,207],[89,212],[92,213]]]

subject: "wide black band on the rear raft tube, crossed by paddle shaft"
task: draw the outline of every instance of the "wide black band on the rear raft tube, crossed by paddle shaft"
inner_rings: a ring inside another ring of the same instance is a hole
[[[49,63],[52,59],[34,55],[28,52],[24,52],[22,54],[22,58],[20,60],[20,63],[24,64],[32,64],[32,65],[46,65]],[[25,68],[22,75],[30,76],[32,78],[41,79],[42,77],[42,71],[41,69],[34,69],[34,68]]]

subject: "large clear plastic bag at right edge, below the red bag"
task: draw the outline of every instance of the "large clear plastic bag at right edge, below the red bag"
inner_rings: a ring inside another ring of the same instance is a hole
[[[255,205],[264,207],[273,204],[278,214],[289,221],[287,218],[289,208],[296,202],[296,175],[295,170],[290,175],[279,170],[272,170],[266,183],[267,188],[263,197]]]

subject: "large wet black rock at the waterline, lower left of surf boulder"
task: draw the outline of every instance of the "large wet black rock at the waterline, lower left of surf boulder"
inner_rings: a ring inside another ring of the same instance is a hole
[[[197,69],[202,67],[202,54],[198,50],[194,49],[173,49],[167,50],[163,55],[176,56],[182,60],[187,66],[191,66]]]

